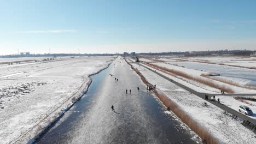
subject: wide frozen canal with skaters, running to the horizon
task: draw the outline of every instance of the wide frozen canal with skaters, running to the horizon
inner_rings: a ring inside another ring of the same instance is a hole
[[[125,61],[92,79],[88,93],[35,143],[196,143]]]

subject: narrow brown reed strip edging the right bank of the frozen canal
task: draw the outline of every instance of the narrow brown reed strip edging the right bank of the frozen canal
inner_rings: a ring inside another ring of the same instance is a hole
[[[126,61],[126,59],[125,59]],[[126,61],[127,62],[127,61]],[[146,78],[141,74],[141,72],[139,72],[138,69],[135,69],[134,67],[132,67],[132,65],[127,62],[131,68],[133,70],[135,70],[135,72],[139,75],[139,77],[141,77],[141,80],[149,86],[152,86],[152,84],[150,84]],[[166,97],[166,95],[164,94],[160,94],[158,93],[158,91],[156,91],[155,89],[153,89],[154,94],[156,95],[156,97],[158,97],[162,103],[167,107],[168,110],[171,110],[177,117],[179,117],[182,122],[184,122],[185,124],[188,125],[188,127],[193,130],[197,135],[199,135],[202,139],[203,142],[206,143],[210,143],[210,144],[216,144],[219,143],[218,140],[212,136],[212,134],[205,128],[201,127],[200,124],[198,124],[196,121],[194,121],[185,111],[183,111],[181,109],[181,107],[179,107],[174,101],[172,101],[171,99],[169,99],[168,97]]]

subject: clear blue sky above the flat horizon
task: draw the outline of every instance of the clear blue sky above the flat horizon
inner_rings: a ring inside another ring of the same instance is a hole
[[[0,55],[256,49],[256,1],[1,1]]]

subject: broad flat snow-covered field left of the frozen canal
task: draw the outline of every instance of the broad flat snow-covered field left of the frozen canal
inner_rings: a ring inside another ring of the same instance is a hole
[[[65,57],[0,65],[0,143],[31,140],[85,91],[90,74],[106,68],[113,59]]]

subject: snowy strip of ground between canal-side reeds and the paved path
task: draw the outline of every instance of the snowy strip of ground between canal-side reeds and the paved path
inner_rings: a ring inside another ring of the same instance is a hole
[[[220,143],[256,142],[253,131],[243,127],[239,119],[233,119],[229,115],[225,115],[222,109],[212,104],[208,103],[207,106],[204,106],[203,103],[207,103],[207,101],[174,85],[170,81],[165,80],[144,67],[138,66],[137,64],[132,65],[142,73],[147,81],[152,83],[152,85],[156,85],[159,92],[164,93],[178,106],[182,107],[191,118],[203,128],[207,129]],[[158,73],[161,73],[161,71],[158,71]],[[161,74],[166,75],[164,73]],[[175,81],[178,81],[178,79]],[[180,80],[178,82],[182,81]]]

